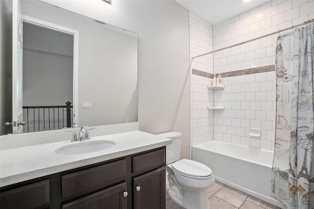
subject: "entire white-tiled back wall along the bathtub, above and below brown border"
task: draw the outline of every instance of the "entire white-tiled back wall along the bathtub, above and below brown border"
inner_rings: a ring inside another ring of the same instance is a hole
[[[313,0],[272,0],[213,26],[213,49],[231,46],[314,18]],[[290,30],[291,31],[291,30]],[[289,32],[289,31],[287,31]],[[275,64],[277,35],[214,53],[214,73],[234,72]],[[224,90],[214,103],[214,138],[273,150],[276,118],[275,72],[223,78]],[[262,130],[250,137],[250,128]]]

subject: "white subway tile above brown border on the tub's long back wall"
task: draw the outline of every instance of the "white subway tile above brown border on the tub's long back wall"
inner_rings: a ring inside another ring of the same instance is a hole
[[[272,0],[239,16],[213,26],[213,49],[231,46],[270,32],[313,19],[313,0]],[[277,35],[262,38],[228,52],[213,54],[214,73],[275,64]],[[234,57],[235,56],[235,57]],[[219,62],[216,61],[219,59]],[[227,61],[226,61],[227,60]],[[236,65],[238,64],[238,65]]]

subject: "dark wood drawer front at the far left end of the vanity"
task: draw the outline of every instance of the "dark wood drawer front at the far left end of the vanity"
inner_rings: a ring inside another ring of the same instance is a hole
[[[1,208],[32,209],[50,203],[49,180],[31,183],[16,189],[1,192]]]

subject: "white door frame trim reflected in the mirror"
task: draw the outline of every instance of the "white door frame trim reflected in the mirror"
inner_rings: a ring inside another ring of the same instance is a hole
[[[45,27],[51,30],[73,35],[73,123],[78,125],[78,34],[79,31],[65,26],[43,21],[37,18],[22,15],[23,22]]]

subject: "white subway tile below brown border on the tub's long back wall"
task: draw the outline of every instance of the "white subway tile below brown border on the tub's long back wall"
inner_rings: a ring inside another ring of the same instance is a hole
[[[214,105],[225,106],[225,110],[214,112],[214,139],[272,149],[276,86],[267,78],[273,74],[274,71],[223,78],[225,89],[213,95]],[[261,137],[250,137],[250,128],[261,129]]]

